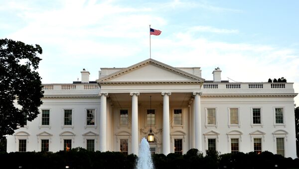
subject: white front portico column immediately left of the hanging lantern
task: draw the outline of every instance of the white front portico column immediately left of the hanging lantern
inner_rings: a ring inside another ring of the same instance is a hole
[[[132,153],[138,155],[138,96],[139,93],[130,93],[132,96]]]

